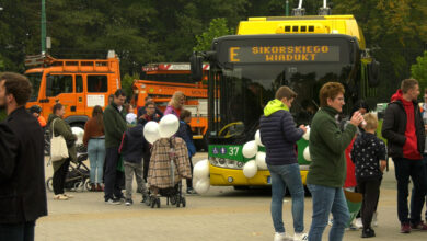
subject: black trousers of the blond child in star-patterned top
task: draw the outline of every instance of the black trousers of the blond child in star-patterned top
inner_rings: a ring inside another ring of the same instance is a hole
[[[369,180],[357,182],[359,192],[363,195],[363,202],[361,204],[361,221],[363,228],[371,228],[372,216],[377,210],[378,200],[380,197],[381,180]]]

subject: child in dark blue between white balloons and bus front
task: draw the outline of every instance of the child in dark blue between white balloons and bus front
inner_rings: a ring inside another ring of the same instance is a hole
[[[189,126],[191,122],[192,122],[192,113],[187,110],[183,110],[180,115],[180,129],[176,133],[176,136],[183,138],[185,144],[187,145],[189,168],[193,175],[192,157],[196,154],[196,147],[194,146],[193,142],[193,133],[192,133],[192,127]],[[196,192],[193,190],[193,179],[187,179],[187,194],[196,194]]]

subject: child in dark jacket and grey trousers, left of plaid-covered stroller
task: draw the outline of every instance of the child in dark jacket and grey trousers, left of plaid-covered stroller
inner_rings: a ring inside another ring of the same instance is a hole
[[[142,179],[142,157],[147,147],[146,138],[142,134],[142,119],[138,124],[126,130],[123,135],[119,152],[124,160],[125,176],[126,176],[126,206],[134,204],[132,202],[132,181],[134,173],[137,179],[138,190],[142,193],[142,202],[148,204],[148,192],[146,182]]]

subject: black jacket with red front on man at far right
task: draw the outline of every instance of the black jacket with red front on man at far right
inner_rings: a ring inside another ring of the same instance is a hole
[[[388,140],[390,157],[422,159],[425,144],[423,117],[418,103],[404,101],[402,90],[393,94],[385,110],[381,134]]]

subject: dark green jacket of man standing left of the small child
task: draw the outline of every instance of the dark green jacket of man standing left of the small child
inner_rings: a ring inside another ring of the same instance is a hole
[[[118,111],[117,105],[112,103],[104,111],[105,147],[118,148],[122,142],[123,134],[127,129],[126,112]]]

